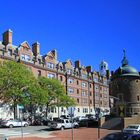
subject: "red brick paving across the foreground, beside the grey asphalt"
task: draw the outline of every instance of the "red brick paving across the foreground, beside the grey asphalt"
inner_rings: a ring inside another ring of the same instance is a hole
[[[116,130],[100,129],[100,138],[108,133],[115,132]],[[118,131],[118,130],[117,130]],[[73,134],[73,137],[72,137]],[[51,134],[46,136],[28,135],[23,138],[9,138],[9,140],[99,140],[98,128],[78,128],[68,129],[64,131],[52,131]]]

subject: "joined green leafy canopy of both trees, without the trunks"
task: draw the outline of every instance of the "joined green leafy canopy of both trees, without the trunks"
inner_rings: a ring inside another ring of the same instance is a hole
[[[19,105],[74,106],[65,87],[56,79],[35,78],[25,65],[13,61],[0,62],[0,100]]]

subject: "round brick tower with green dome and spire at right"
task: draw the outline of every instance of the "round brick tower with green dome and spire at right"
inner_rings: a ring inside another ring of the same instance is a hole
[[[129,65],[125,50],[122,66],[112,73],[110,95],[115,97],[118,113],[120,104],[124,110],[123,116],[140,113],[140,75],[134,67]]]

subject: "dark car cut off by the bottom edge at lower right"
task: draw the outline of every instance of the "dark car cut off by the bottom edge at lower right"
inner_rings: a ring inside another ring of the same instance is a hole
[[[128,140],[131,135],[130,133],[114,132],[107,134],[105,137],[101,138],[101,140]]]

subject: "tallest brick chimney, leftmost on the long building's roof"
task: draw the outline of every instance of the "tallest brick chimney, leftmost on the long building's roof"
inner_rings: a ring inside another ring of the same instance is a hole
[[[12,30],[7,30],[3,33],[3,44],[6,46],[8,44],[12,44]]]

